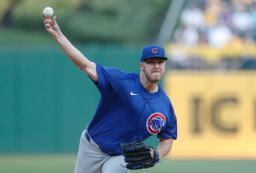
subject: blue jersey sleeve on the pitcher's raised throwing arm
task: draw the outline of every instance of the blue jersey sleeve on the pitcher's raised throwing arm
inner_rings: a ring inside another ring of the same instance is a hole
[[[100,64],[96,62],[94,63],[96,64],[99,82],[95,83],[93,81],[93,83],[100,91],[101,97],[106,98],[108,96],[113,95],[120,87],[122,76],[124,76],[126,73],[117,68],[102,67]]]

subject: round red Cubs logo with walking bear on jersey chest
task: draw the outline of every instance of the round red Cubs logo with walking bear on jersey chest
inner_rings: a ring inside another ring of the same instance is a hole
[[[159,133],[165,123],[165,117],[161,113],[153,113],[147,120],[147,129],[151,134]]]

